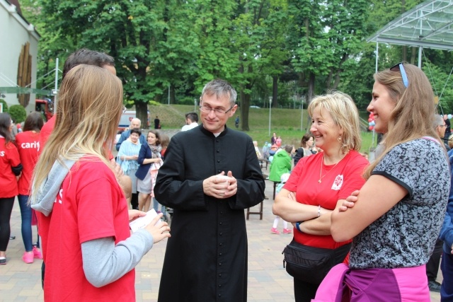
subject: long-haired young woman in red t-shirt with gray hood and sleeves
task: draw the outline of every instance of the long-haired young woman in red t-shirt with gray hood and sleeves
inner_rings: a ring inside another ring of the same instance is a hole
[[[46,301],[134,301],[134,267],[169,237],[161,216],[131,235],[125,194],[108,161],[122,113],[122,84],[81,64],[62,81],[55,129],[34,172]],[[154,226],[158,223],[156,226]]]

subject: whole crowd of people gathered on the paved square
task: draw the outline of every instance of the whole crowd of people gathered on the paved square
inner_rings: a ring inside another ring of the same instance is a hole
[[[355,103],[339,91],[311,100],[297,149],[273,133],[262,153],[226,127],[238,105],[222,79],[202,89],[201,123],[188,112],[171,139],[157,116],[146,136],[133,119],[117,137],[122,95],[113,57],[82,49],[64,64],[49,122],[30,113],[13,137],[0,113],[0,265],[18,196],[22,260],[43,260],[45,301],[134,301],[134,267],[165,238],[159,301],[246,301],[244,209],[265,198],[260,162],[276,191],[270,231],[282,219],[293,236],[284,255],[295,301],[430,301],[441,254],[437,289],[453,301],[452,139],[418,67],[374,74],[367,110],[384,136],[372,163]],[[130,231],[151,199],[157,216]]]

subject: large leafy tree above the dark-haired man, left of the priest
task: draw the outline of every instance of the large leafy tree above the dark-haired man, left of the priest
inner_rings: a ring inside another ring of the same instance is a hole
[[[190,37],[190,27],[180,25],[179,30],[186,30],[173,35],[166,23],[175,20],[171,11],[179,2],[42,0],[42,14],[50,20],[45,23],[49,36],[44,40],[64,35],[62,40],[69,41],[59,45],[57,56],[65,57],[77,48],[87,47],[115,57],[125,97],[133,101],[137,117],[146,120],[149,100],[161,95],[171,84],[168,70],[183,64],[183,59],[190,61],[188,55],[174,54],[178,51],[188,54],[188,45],[181,39]],[[175,57],[183,59],[178,64],[167,64],[175,61]]]

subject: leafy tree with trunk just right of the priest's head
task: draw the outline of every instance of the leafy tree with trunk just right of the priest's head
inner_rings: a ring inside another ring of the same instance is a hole
[[[235,82],[239,85],[241,129],[249,130],[248,110],[253,86],[266,74],[276,81],[283,72],[283,62],[289,57],[285,48],[287,1],[244,1],[238,6],[234,20],[234,42],[238,59]],[[277,84],[273,91],[277,100]]]

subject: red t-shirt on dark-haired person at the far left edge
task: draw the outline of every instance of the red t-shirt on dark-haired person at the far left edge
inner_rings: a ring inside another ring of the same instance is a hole
[[[16,146],[0,135],[0,198],[14,197],[18,194],[16,175],[11,167],[21,164]]]

